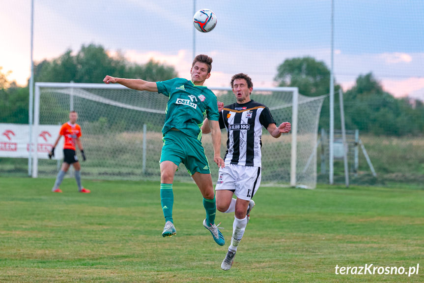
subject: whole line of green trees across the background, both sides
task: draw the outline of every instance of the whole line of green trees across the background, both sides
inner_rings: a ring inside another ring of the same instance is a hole
[[[150,60],[131,63],[121,53],[110,56],[101,45],[83,45],[78,53],[67,50],[52,60],[34,64],[35,82],[98,83],[105,74],[116,77],[162,81],[177,76],[172,66]],[[7,80],[0,67],[0,123],[28,123],[28,85],[19,87]],[[298,87],[299,93],[319,96],[330,93],[330,70],[312,57],[292,58],[281,63],[274,80],[282,87]],[[335,127],[340,128],[340,86],[335,83]],[[424,133],[424,105],[416,100],[396,98],[385,92],[372,73],[359,75],[355,85],[343,94],[346,129],[378,135],[421,135]],[[329,127],[329,99],[324,100],[319,126]]]

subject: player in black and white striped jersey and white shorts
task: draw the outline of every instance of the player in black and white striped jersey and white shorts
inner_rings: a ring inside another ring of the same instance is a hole
[[[250,98],[253,83],[248,75],[234,75],[231,88],[237,101],[225,107],[218,102],[219,124],[222,129],[226,128],[228,139],[224,157],[226,166],[220,168],[215,187],[216,204],[221,212],[234,212],[231,244],[221,264],[224,270],[232,266],[254,207],[252,197],[260,185],[262,127],[275,138],[291,129],[288,122],[277,127],[268,107]],[[208,123],[203,123],[202,132],[209,131]],[[232,197],[234,194],[236,198]]]

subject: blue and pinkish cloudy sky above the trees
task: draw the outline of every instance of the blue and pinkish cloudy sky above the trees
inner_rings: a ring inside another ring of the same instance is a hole
[[[0,67],[20,85],[30,75],[30,6],[0,0]],[[33,58],[95,43],[190,78],[194,52],[204,53],[214,59],[205,85],[228,86],[244,72],[254,86],[272,87],[286,59],[311,56],[331,67],[331,7],[331,0],[34,0]],[[200,8],[215,12],[213,31],[194,30]],[[334,0],[336,82],[347,90],[368,72],[389,93],[424,100],[424,1]]]

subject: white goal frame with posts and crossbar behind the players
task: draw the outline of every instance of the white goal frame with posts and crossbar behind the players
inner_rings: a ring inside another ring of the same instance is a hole
[[[126,87],[119,85],[119,84],[88,84],[88,83],[47,83],[47,82],[37,82],[35,83],[35,90],[34,90],[34,119],[33,119],[33,125],[30,125],[32,136],[30,137],[30,144],[32,141],[34,142],[35,148],[38,146],[37,142],[37,136],[36,133],[38,132],[39,128],[39,122],[40,122],[40,89],[41,88],[70,88],[71,94],[71,107],[73,105],[73,94],[72,94],[72,88],[81,88],[81,89],[127,89]],[[208,87],[212,91],[231,91],[231,88],[229,87]],[[299,97],[299,90],[296,87],[274,87],[274,88],[254,88],[255,91],[265,91],[265,92],[290,92],[292,93],[292,117],[291,117],[291,158],[290,158],[290,186],[296,187],[298,184],[296,182],[296,158],[297,158],[297,130],[298,130],[298,97]],[[316,98],[316,97],[314,97]],[[90,98],[92,99],[92,98]],[[105,98],[102,98],[102,101],[104,101]],[[100,100],[99,100],[100,102]],[[124,103],[119,103],[116,101],[110,101],[111,103],[114,103],[115,106],[128,108],[128,109],[136,109],[141,111],[156,111],[152,109],[144,109],[141,107],[136,107],[133,105],[128,105]],[[280,106],[281,107],[281,106]],[[280,108],[279,107],[279,108]],[[139,109],[140,108],[140,109]],[[269,107],[270,110],[273,110],[273,107]],[[165,113],[165,110],[163,111]],[[317,141],[315,140],[315,143]],[[143,147],[145,145],[143,144]],[[145,148],[143,148],[143,152],[145,151]],[[32,158],[32,178],[38,177],[38,153],[37,151],[33,151],[32,155],[28,157],[29,159]],[[143,157],[144,159],[144,157]],[[28,162],[30,164],[30,162]],[[31,168],[28,170],[31,171]]]

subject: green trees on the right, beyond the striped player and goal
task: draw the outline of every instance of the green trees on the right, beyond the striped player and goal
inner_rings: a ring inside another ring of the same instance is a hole
[[[312,57],[287,59],[278,66],[275,81],[281,87],[298,87],[299,93],[319,96],[330,93],[330,70]],[[335,83],[335,128],[340,126],[340,85]],[[396,98],[385,92],[372,73],[359,75],[355,85],[343,94],[346,129],[376,135],[424,134],[423,101]],[[320,128],[329,128],[330,103],[324,100]]]

